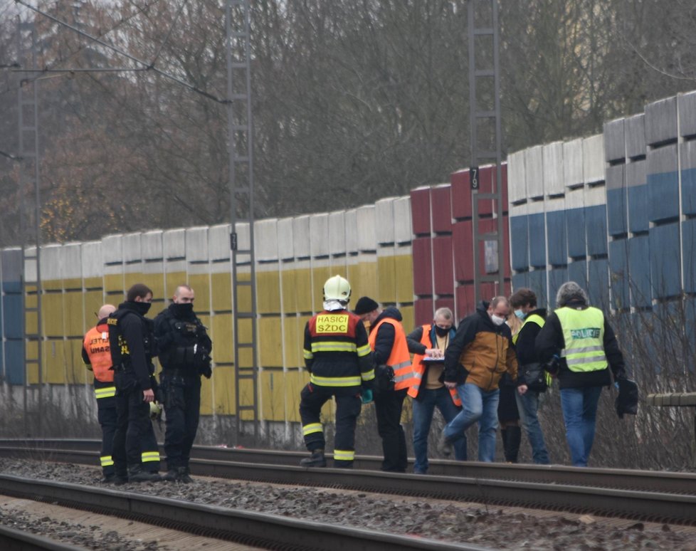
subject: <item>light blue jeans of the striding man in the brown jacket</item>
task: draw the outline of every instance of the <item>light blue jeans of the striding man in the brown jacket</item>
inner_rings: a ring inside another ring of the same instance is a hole
[[[445,425],[445,438],[454,444],[465,438],[466,429],[478,421],[478,461],[492,463],[495,460],[500,390],[485,392],[473,383],[465,383],[457,387],[457,394],[463,409]]]

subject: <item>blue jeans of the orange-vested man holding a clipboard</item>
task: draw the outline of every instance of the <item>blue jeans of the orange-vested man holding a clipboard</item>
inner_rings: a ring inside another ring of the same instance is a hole
[[[421,388],[418,398],[413,402],[413,453],[416,461],[413,463],[413,472],[425,474],[428,472],[428,433],[433,421],[435,408],[449,423],[460,411],[452,402],[450,391],[445,387],[439,389]],[[458,461],[466,461],[466,436],[454,444],[454,456]]]

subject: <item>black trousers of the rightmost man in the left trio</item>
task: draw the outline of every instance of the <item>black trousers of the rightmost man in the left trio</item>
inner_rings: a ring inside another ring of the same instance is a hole
[[[188,467],[201,414],[201,376],[168,374],[160,377],[164,396],[167,430],[164,432],[164,453],[167,468]]]

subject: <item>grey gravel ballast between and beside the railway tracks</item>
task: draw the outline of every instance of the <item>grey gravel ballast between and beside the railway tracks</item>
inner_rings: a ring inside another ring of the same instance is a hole
[[[6,459],[0,459],[0,472],[87,486],[97,483],[99,478],[96,468]],[[539,516],[532,511],[516,508],[486,508],[485,505],[471,503],[387,498],[343,490],[223,481],[196,478],[195,473],[194,478],[191,484],[126,484],[118,489],[500,549],[696,551],[696,530],[692,528],[628,521],[608,522],[570,513],[544,513]],[[119,542],[115,533],[96,533],[97,530],[89,527],[65,527],[49,520],[38,526],[31,523],[26,526],[21,518],[0,517],[4,525],[23,530],[36,528],[47,537],[93,549],[135,551],[152,548],[147,547],[147,542],[140,542],[141,547],[129,546],[130,542]],[[65,537],[75,539],[66,540]]]

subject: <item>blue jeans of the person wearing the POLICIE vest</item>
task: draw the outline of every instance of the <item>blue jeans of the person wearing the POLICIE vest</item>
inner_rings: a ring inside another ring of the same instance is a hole
[[[594,423],[602,387],[561,389],[566,440],[575,467],[586,467],[594,442]]]

